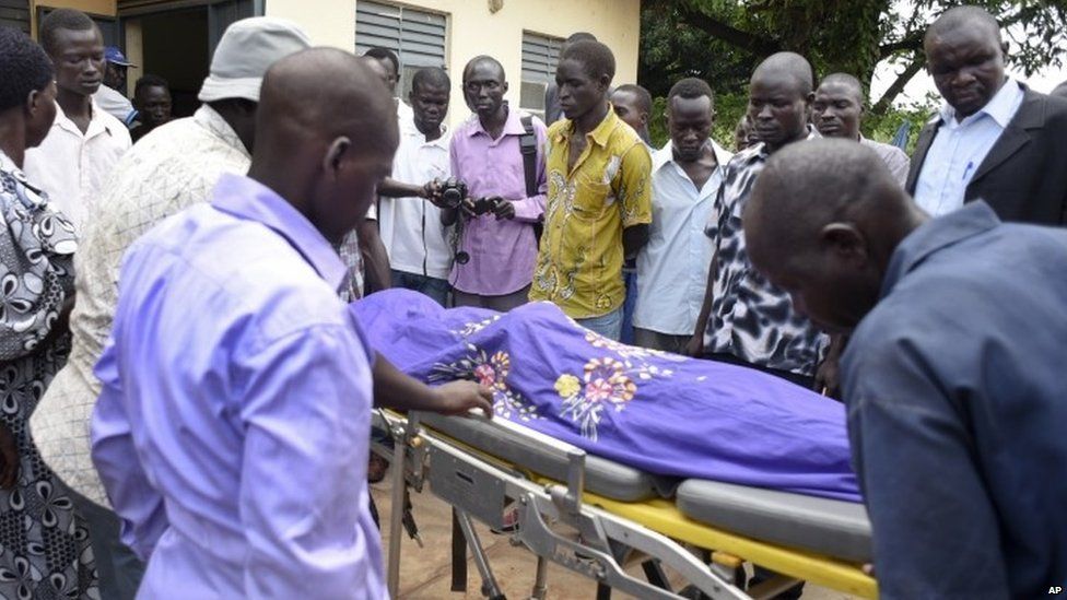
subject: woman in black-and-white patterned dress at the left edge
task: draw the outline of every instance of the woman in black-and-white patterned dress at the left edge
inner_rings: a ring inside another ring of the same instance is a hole
[[[51,62],[8,27],[0,82],[0,598],[98,599],[85,523],[27,430],[70,352],[77,245],[21,170],[56,117]]]

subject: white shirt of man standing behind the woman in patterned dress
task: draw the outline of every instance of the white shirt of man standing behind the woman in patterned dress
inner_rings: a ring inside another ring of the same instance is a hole
[[[48,192],[51,204],[81,233],[90,207],[96,203],[115,164],[131,144],[126,126],[95,103],[85,133],[56,103],[56,121],[45,141],[26,151],[23,170]]]

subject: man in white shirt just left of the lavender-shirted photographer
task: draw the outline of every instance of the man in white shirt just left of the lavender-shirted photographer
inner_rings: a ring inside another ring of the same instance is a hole
[[[448,74],[437,68],[418,71],[408,96],[413,118],[401,119],[400,146],[392,161],[392,179],[378,192],[378,227],[389,254],[394,287],[421,292],[442,306],[448,299],[453,249],[442,224],[436,183],[448,177]],[[410,189],[418,195],[402,196]]]

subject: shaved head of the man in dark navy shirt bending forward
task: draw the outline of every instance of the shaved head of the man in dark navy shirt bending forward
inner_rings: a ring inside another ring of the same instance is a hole
[[[921,212],[870,149],[821,139],[775,153],[746,207],[752,263],[830,331],[878,301],[889,257]]]

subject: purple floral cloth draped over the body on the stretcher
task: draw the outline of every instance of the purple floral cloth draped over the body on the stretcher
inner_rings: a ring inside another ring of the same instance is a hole
[[[501,315],[406,291],[351,305],[424,381],[492,385],[497,417],[649,473],[859,502],[842,404],[753,369],[623,345],[551,303]]]

